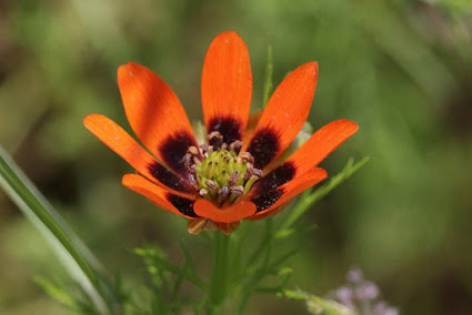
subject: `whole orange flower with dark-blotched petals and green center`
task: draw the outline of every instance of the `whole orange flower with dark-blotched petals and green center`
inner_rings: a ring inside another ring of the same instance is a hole
[[[123,176],[124,186],[189,219],[191,233],[229,234],[240,220],[271,216],[324,180],[327,172],[314,166],[358,130],[348,120],[331,122],[280,161],[307,120],[317,79],[317,62],[299,67],[275,89],[262,114],[249,118],[248,49],[235,32],[223,32],[211,42],[203,63],[205,144],[197,143],[174,92],[137,63],[119,68],[118,84],[128,121],[149,152],[103,115],[91,114],[83,122],[137,170]]]

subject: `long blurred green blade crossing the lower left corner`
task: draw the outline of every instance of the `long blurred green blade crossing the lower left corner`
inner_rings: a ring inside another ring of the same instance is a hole
[[[106,289],[109,294],[111,291],[96,274],[96,271],[102,267],[1,145],[0,186],[41,233],[97,309],[102,314],[112,313],[111,303],[106,294]]]

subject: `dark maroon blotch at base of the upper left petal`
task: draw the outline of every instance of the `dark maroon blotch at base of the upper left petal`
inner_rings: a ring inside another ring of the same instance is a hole
[[[160,146],[159,152],[162,154],[163,162],[178,173],[187,174],[187,169],[183,164],[183,156],[189,146],[197,146],[193,136],[185,131],[169,135]]]

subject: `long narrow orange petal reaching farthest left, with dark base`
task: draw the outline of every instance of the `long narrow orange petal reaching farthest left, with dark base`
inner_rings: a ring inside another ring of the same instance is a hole
[[[151,181],[180,192],[193,192],[192,187],[151,156],[134,139],[109,118],[90,114],[83,120],[86,128],[98,139]]]

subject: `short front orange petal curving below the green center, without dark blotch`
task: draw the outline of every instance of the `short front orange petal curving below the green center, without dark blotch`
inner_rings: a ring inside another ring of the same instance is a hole
[[[208,200],[198,200],[193,209],[199,216],[210,219],[215,223],[231,223],[255,213],[255,205],[250,201],[240,201],[220,209]]]

